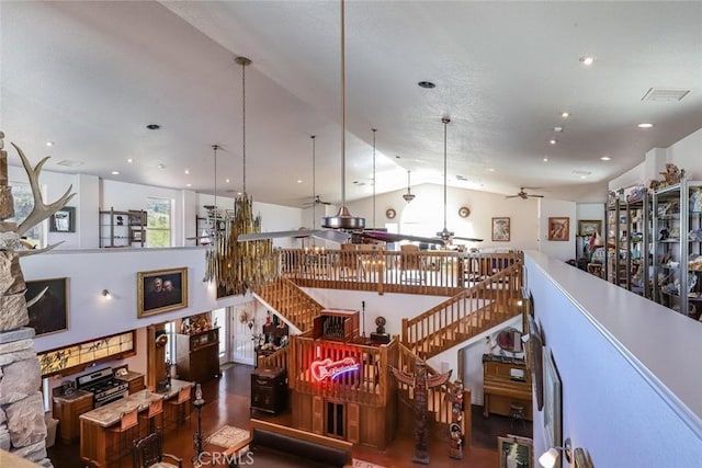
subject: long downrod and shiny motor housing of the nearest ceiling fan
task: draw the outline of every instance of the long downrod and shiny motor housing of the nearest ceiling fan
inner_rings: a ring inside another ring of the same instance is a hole
[[[321,218],[321,227],[332,229],[363,229],[365,227],[365,219],[352,216],[349,208],[347,208],[347,62],[344,23],[344,1],[341,0],[341,207],[336,216]]]

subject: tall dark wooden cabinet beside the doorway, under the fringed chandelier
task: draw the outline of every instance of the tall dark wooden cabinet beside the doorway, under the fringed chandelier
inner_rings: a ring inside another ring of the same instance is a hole
[[[219,376],[219,329],[176,333],[176,356],[182,380],[205,381]]]

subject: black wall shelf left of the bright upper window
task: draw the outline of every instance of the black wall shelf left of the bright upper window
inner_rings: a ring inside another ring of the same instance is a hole
[[[120,212],[114,208],[100,212],[100,247],[144,247],[146,216],[141,209]]]

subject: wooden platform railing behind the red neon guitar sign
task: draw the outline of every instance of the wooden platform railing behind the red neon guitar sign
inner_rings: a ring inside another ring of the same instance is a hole
[[[293,390],[339,401],[366,406],[385,406],[388,396],[397,390],[397,381],[389,373],[389,365],[397,359],[397,341],[387,345],[365,346],[355,343],[325,341],[324,344],[308,336],[295,336],[288,359],[295,363],[288,368],[288,387]],[[318,380],[313,375],[313,362],[351,358],[358,370]]]

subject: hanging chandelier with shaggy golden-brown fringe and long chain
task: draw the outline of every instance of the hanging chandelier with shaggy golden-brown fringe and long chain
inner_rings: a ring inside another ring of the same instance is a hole
[[[242,295],[258,289],[278,278],[278,265],[273,242],[270,239],[237,242],[240,235],[260,233],[261,217],[253,217],[253,199],[246,192],[246,67],[251,65],[247,57],[237,57],[241,66],[241,157],[242,187],[234,201],[234,219],[227,236],[217,248],[208,253],[213,258],[207,263],[207,276],[214,276],[228,295]]]

